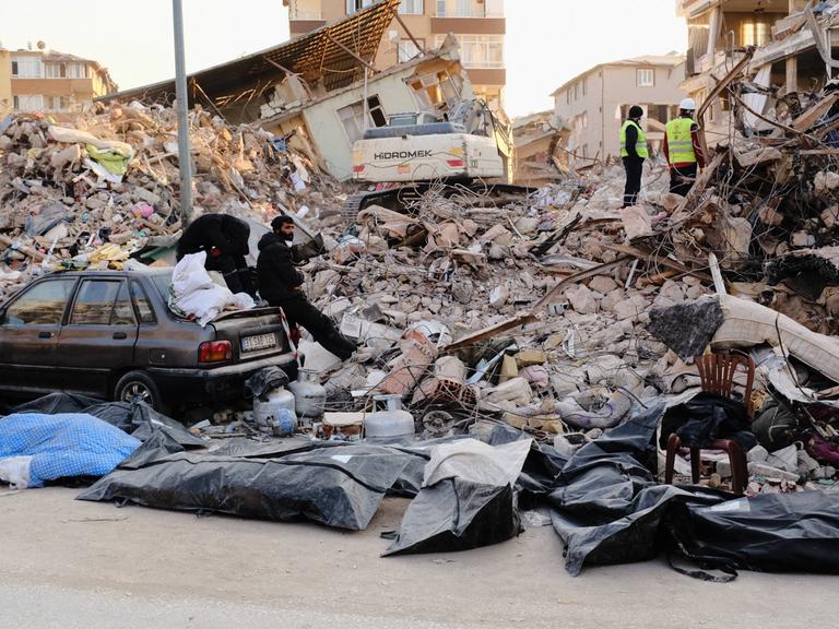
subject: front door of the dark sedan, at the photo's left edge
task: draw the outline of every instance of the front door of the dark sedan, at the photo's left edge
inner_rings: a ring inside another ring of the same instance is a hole
[[[56,353],[75,277],[42,280],[0,310],[0,389],[48,393],[61,388]]]

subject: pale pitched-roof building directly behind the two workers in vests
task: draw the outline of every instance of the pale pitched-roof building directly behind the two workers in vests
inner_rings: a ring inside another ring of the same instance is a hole
[[[618,157],[621,126],[633,105],[643,108],[648,143],[658,151],[664,126],[685,97],[684,79],[685,58],[666,55],[595,66],[557,88],[554,110],[568,129],[569,165],[579,168]]]

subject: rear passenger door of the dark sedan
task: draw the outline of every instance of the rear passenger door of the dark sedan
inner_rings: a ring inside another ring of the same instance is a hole
[[[115,370],[133,366],[137,318],[122,277],[85,277],[61,327],[63,389],[107,397]]]

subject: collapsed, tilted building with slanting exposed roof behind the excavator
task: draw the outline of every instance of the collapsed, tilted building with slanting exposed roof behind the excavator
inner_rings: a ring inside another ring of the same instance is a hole
[[[352,177],[353,144],[393,114],[442,117],[472,98],[454,37],[389,68],[378,49],[400,0],[383,0],[281,46],[188,76],[190,106],[284,139],[339,180]],[[173,81],[109,98],[170,104]]]

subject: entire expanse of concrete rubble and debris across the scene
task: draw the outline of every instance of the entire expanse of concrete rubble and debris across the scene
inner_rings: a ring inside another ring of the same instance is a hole
[[[623,212],[617,164],[500,197],[435,182],[356,212],[344,203],[351,186],[288,145],[277,152],[264,131],[199,108],[190,116],[196,213],[251,225],[289,213],[330,250],[304,264],[305,290],[359,345],[341,364],[303,341],[330,412],[368,412],[373,396],[398,394],[417,426],[426,412],[450,415],[446,431],[491,417],[570,451],[584,431],[696,391],[689,363],[708,347],[759,344],[784,369],[761,365],[755,395],[768,397],[794,361],[820,391],[793,382],[784,395],[805,390],[807,404],[830,408],[839,396],[839,187],[830,157],[800,152],[800,134],[735,131],[686,198],[669,193],[666,167],[652,158],[643,200]],[[156,260],[181,227],[174,138],[174,112],[162,107],[15,116],[0,135],[0,290],[48,269],[165,263]],[[794,192],[779,197],[780,187]],[[709,273],[711,253],[720,263]],[[796,413],[793,441],[814,430],[839,438],[839,420]],[[328,414],[320,435],[357,438],[357,416],[347,417]],[[801,452],[753,461],[756,491],[769,485],[758,477],[829,482],[835,462],[811,452],[814,467]]]

